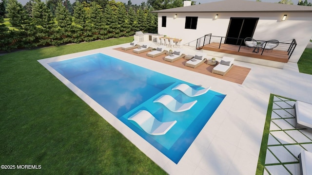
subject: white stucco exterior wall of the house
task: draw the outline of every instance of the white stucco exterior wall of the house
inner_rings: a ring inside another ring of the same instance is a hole
[[[177,14],[177,18],[174,15]],[[218,14],[218,19],[214,19]],[[281,21],[284,14],[287,19]],[[166,27],[161,27],[162,16],[167,16]],[[185,29],[185,17],[198,17],[197,28]],[[158,34],[181,38],[182,44],[196,46],[197,38],[207,34],[226,36],[230,18],[259,18],[254,39],[277,39],[280,42],[297,42],[290,62],[297,63],[312,36],[312,13],[158,13]]]

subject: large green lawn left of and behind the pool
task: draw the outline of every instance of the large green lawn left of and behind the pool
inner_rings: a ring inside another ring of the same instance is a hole
[[[166,174],[38,59],[131,42],[133,37],[0,56],[0,174]]]

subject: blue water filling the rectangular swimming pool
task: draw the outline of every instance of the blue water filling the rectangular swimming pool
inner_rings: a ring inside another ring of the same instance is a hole
[[[180,83],[197,89],[201,87],[102,53],[49,65],[175,163],[225,97],[213,90],[201,96],[188,97],[172,88]],[[194,100],[197,103],[190,110],[172,112],[160,103],[153,103],[164,94],[171,95],[180,103]],[[158,121],[176,120],[177,123],[164,135],[149,135],[137,123],[128,120],[142,109],[149,111]]]

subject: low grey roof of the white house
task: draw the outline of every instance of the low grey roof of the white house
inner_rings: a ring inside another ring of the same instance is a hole
[[[153,12],[312,12],[312,6],[258,2],[250,0],[221,0],[198,5],[157,10]]]

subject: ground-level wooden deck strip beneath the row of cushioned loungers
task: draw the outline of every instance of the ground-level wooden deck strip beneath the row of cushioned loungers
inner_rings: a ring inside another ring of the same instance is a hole
[[[187,60],[185,60],[183,58],[171,63],[169,61],[164,60],[164,57],[166,56],[166,54],[162,54],[160,56],[156,56],[156,57],[152,58],[152,57],[146,55],[146,53],[148,53],[148,52],[133,53],[132,50],[124,51],[121,48],[116,48],[115,50],[120,51],[120,52],[124,52],[124,53],[129,53],[129,54],[141,56],[141,57],[144,57],[144,58],[147,58],[150,60],[158,61],[158,62],[168,64],[168,65],[172,65],[172,66],[176,66],[176,67],[183,68],[186,70],[192,70],[192,71],[195,71],[198,73],[202,73],[202,74],[213,76],[213,77],[216,77],[216,78],[219,78],[222,80],[234,82],[234,83],[237,83],[240,85],[243,84],[245,78],[247,77],[249,71],[251,70],[249,68],[244,68],[244,67],[234,65],[234,67],[225,76],[222,76],[222,75],[212,73],[214,66],[207,65],[206,63],[204,63],[204,64],[202,64],[202,65],[200,65],[194,69],[194,68],[185,66],[185,63]]]

